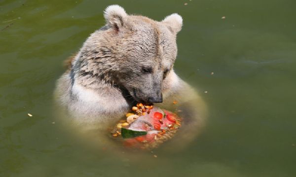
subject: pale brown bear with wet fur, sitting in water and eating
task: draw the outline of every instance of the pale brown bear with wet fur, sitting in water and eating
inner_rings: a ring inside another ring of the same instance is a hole
[[[180,107],[194,103],[198,109],[204,108],[195,90],[173,70],[176,35],[182,27],[180,15],[157,22],[127,15],[122,7],[112,5],[104,17],[106,25],[92,33],[67,60],[68,70],[57,81],[56,99],[77,124],[112,124],[140,98],[161,93],[163,108],[174,100]],[[152,67],[153,72],[145,74],[143,67]],[[197,109],[191,112],[195,114]],[[203,124],[200,118],[191,117],[188,124],[195,128]]]

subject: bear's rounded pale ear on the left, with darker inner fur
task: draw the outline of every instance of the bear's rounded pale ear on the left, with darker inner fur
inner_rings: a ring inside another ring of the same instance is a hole
[[[109,27],[118,31],[124,23],[127,14],[119,5],[109,5],[104,11],[104,18]]]

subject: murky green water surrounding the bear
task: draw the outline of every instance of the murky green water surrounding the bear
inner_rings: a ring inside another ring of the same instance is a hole
[[[59,125],[52,93],[63,60],[104,25],[110,4],[155,20],[184,18],[175,70],[200,90],[209,116],[178,153],[90,149]],[[295,0],[0,0],[0,176],[295,177],[295,7]]]

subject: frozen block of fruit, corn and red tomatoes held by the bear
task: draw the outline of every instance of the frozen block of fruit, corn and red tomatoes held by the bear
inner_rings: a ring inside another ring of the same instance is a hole
[[[138,103],[128,113],[126,120],[120,120],[112,131],[112,136],[122,138],[129,148],[156,148],[171,139],[181,127],[181,119],[170,111],[153,105]]]

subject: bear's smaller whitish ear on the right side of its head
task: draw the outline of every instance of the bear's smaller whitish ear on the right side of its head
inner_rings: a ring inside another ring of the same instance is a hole
[[[165,23],[165,25],[173,33],[178,33],[182,29],[182,25],[183,25],[183,19],[177,13],[174,13],[172,15],[169,15],[169,16],[165,17],[161,22]]]

